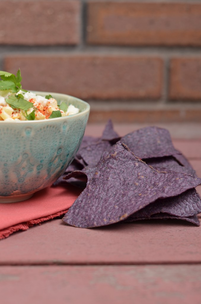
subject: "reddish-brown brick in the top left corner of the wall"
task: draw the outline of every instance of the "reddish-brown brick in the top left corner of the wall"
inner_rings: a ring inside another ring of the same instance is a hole
[[[80,2],[0,1],[0,44],[77,44]]]

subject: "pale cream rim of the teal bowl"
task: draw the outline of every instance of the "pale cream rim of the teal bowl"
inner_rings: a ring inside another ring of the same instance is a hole
[[[19,123],[20,124],[22,124],[22,123],[46,123],[46,122],[50,122],[50,121],[63,121],[63,120],[66,120],[66,119],[71,119],[71,118],[73,118],[73,117],[79,117],[79,116],[81,116],[81,115],[83,115],[83,114],[85,114],[85,113],[87,113],[87,112],[90,112],[90,105],[88,104],[88,102],[86,102],[86,101],[83,101],[82,99],[80,99],[80,98],[77,98],[77,97],[75,97],[75,96],[72,96],[72,95],[68,95],[68,94],[63,94],[63,93],[56,93],[56,92],[45,92],[45,91],[33,91],[33,90],[30,90],[29,92],[33,92],[33,93],[35,93],[35,94],[40,94],[40,93],[43,93],[44,95],[49,95],[49,94],[51,94],[51,95],[54,95],[54,94],[56,94],[56,95],[60,95],[60,96],[68,96],[68,97],[71,97],[71,98],[75,98],[75,99],[77,99],[78,101],[80,101],[81,103],[83,103],[84,105],[86,105],[86,109],[84,110],[84,111],[81,111],[81,112],[79,112],[79,113],[77,113],[77,114],[72,114],[72,115],[68,115],[68,116],[63,116],[63,117],[56,117],[56,118],[52,118],[52,119],[40,119],[40,120],[19,120],[19,121],[17,121],[14,125],[16,126],[16,125],[18,125]],[[4,124],[13,124],[14,122],[12,122],[12,121],[0,121],[0,123],[4,123]]]

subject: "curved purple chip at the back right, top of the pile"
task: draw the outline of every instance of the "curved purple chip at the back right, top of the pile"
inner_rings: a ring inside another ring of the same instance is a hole
[[[170,133],[158,127],[146,127],[121,137],[122,143],[139,158],[153,158],[177,154]]]

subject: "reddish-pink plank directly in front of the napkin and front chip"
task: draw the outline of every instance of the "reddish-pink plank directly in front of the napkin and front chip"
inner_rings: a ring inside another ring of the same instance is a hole
[[[82,229],[56,219],[0,242],[0,264],[201,263],[201,227],[149,220]]]

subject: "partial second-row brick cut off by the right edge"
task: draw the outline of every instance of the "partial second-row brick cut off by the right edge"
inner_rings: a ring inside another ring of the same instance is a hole
[[[171,60],[169,94],[171,99],[201,100],[201,57]]]

